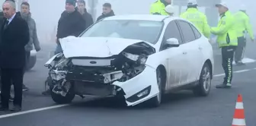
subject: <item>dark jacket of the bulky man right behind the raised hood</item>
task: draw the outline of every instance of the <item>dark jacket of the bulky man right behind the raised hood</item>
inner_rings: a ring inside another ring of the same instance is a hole
[[[79,36],[85,30],[85,20],[78,11],[69,14],[63,11],[59,18],[57,28],[57,39],[65,38],[67,36]]]

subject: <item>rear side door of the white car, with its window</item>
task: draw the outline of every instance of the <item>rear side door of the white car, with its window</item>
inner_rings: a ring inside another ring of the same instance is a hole
[[[192,83],[199,80],[202,67],[201,64],[203,62],[203,55],[200,51],[202,49],[200,47],[200,35],[198,35],[198,33],[194,33],[193,28],[195,30],[197,29],[189,22],[185,20],[178,20],[177,22],[184,38],[184,50],[187,51],[187,66],[184,73],[187,74],[187,83]]]

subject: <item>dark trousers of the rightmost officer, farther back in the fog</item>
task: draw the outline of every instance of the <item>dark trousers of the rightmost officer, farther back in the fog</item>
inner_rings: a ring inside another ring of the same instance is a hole
[[[242,55],[245,52],[246,39],[244,36],[238,37],[238,46],[235,49],[235,61],[242,61]]]

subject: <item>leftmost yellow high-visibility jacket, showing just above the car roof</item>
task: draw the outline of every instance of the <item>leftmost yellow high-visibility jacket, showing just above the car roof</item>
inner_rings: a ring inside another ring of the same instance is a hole
[[[161,2],[161,0],[158,0],[154,2],[150,7],[150,14],[161,14],[161,15],[169,15],[165,11],[165,4]]]

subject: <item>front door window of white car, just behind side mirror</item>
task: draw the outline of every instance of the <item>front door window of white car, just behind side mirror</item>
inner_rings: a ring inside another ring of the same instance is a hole
[[[170,38],[178,39],[179,43],[183,43],[180,30],[178,29],[178,26],[174,21],[171,21],[166,27],[164,41]]]

